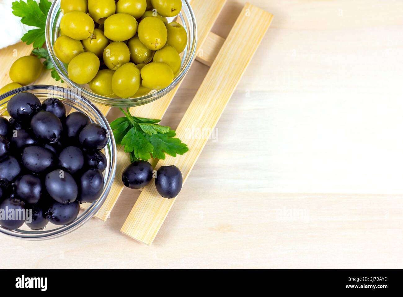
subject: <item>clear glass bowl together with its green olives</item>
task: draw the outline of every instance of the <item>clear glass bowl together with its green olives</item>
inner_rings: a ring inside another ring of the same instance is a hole
[[[114,107],[163,97],[195,57],[188,0],[55,0],[46,46],[56,71],[91,101]]]

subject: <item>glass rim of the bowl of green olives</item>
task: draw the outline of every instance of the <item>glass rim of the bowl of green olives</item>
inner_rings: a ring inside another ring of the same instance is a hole
[[[181,0],[182,3],[185,3],[187,10],[189,11],[189,19],[191,21],[190,25],[191,27],[189,28],[194,32],[193,39],[188,38],[188,42],[190,41],[190,55],[187,55],[187,59],[185,60],[185,65],[183,69],[177,74],[177,76],[172,80],[169,86],[162,88],[161,90],[149,93],[147,95],[143,95],[141,97],[136,97],[136,98],[113,98],[113,97],[106,97],[102,95],[98,95],[96,93],[93,93],[86,88],[84,88],[80,84],[76,84],[75,82],[71,81],[64,73],[60,70],[60,67],[58,67],[58,59],[54,53],[53,46],[50,42],[51,39],[51,31],[52,31],[52,22],[54,21],[54,18],[57,17],[58,12],[56,11],[56,5],[60,4],[60,0],[55,0],[52,2],[52,5],[50,6],[50,10],[48,13],[48,16],[46,18],[46,28],[45,28],[45,35],[46,35],[46,47],[48,48],[50,60],[52,61],[54,68],[56,72],[59,74],[59,76],[62,78],[64,82],[66,82],[69,86],[74,87],[74,88],[81,88],[81,92],[84,93],[87,97],[91,98],[94,100],[96,103],[108,105],[108,106],[113,106],[113,107],[132,107],[132,106],[137,106],[137,105],[143,105],[150,103],[152,101],[155,101],[164,95],[168,94],[170,91],[172,91],[178,84],[179,82],[184,78],[185,74],[187,71],[190,69],[191,64],[195,58],[196,55],[196,47],[197,47],[197,24],[196,24],[196,18],[193,13],[193,9],[189,3],[189,0]],[[179,15],[181,15],[179,13]],[[178,16],[179,16],[178,15]],[[154,90],[152,90],[154,91]]]

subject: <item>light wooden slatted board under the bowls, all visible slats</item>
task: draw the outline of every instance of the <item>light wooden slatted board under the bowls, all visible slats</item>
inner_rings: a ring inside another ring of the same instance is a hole
[[[165,160],[150,160],[156,168],[163,165],[176,165],[181,169],[184,182],[198,156],[203,150],[207,137],[191,137],[189,128],[212,131],[226,103],[231,98],[241,79],[253,53],[258,48],[266,30],[272,21],[272,15],[256,6],[246,4],[233,26],[229,36],[224,39],[210,32],[220,14],[226,0],[193,0],[191,5],[197,20],[197,61],[211,66],[202,86],[195,95],[191,105],[177,128],[177,136],[187,143],[189,152],[176,158],[167,156]],[[0,86],[11,82],[8,70],[19,57],[29,55],[32,47],[22,42],[0,50],[0,63],[3,73],[0,76]],[[50,71],[46,70],[34,84],[51,84],[66,86],[56,82]],[[130,112],[135,116],[145,118],[162,118],[170,102],[180,87],[180,83],[168,95],[152,103],[131,107]],[[96,104],[100,111],[107,115],[110,107]],[[96,214],[96,217],[106,220],[112,211],[120,193],[123,190],[121,175],[129,164],[129,156],[118,147],[116,158],[116,177],[110,194]],[[157,163],[158,161],[158,163]],[[180,195],[179,195],[180,198]],[[121,232],[150,245],[166,218],[174,199],[164,199],[156,192],[152,181],[139,196],[131,213],[127,217]]]

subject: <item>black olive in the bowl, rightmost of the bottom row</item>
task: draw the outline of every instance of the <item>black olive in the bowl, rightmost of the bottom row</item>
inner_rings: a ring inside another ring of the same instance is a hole
[[[80,212],[78,201],[62,204],[54,201],[47,211],[46,217],[55,225],[67,225],[72,223]]]

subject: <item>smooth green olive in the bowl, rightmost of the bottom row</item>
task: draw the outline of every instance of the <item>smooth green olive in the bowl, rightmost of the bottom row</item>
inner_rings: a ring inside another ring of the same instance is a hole
[[[141,69],[143,86],[150,90],[160,90],[169,86],[174,79],[171,67],[161,62],[151,62]]]

